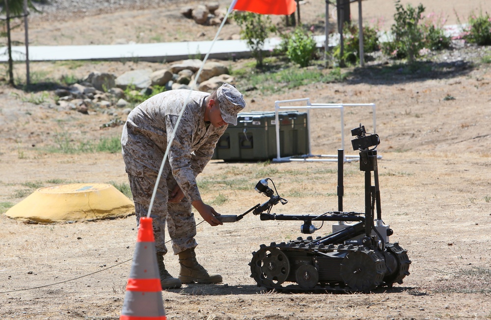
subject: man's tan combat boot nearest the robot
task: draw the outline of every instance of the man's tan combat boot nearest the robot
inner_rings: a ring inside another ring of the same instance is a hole
[[[221,275],[208,273],[198,264],[194,248],[179,253],[179,264],[181,264],[179,279],[182,283],[219,283],[222,281]]]

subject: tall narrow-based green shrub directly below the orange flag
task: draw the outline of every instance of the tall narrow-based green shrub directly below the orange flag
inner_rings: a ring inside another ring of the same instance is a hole
[[[252,12],[237,12],[233,15],[233,19],[241,27],[241,38],[247,41],[247,47],[256,59],[256,66],[261,67],[264,41],[271,32],[276,32],[271,18]]]

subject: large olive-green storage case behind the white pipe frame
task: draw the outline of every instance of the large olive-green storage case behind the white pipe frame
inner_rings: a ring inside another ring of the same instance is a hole
[[[278,113],[281,157],[309,153],[307,113]],[[272,111],[242,112],[237,126],[228,126],[220,137],[212,159],[225,161],[261,161],[276,158],[276,128]]]

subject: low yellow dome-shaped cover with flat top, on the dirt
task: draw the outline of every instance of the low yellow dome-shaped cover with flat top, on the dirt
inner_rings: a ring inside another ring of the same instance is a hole
[[[132,213],[135,213],[133,202],[115,187],[82,183],[39,188],[5,215],[50,223],[109,219]]]

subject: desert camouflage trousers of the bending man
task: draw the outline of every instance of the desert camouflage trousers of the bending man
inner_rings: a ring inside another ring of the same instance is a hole
[[[128,174],[133,201],[135,202],[136,225],[139,225],[140,217],[146,217],[150,200],[157,181],[158,173],[145,169],[142,177]],[[184,197],[179,203],[169,203],[167,199],[172,189],[177,185],[172,176],[170,166],[164,167],[161,181],[155,195],[150,217],[153,219],[156,252],[167,253],[165,246],[165,226],[172,240],[174,254],[178,254],[189,248],[194,248],[197,243],[196,222],[191,212],[191,203]]]

